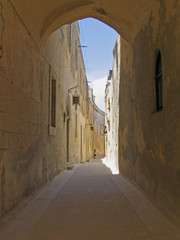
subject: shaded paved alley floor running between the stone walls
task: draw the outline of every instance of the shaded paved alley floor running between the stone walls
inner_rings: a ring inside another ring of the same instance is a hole
[[[179,230],[100,159],[65,171],[0,231],[1,240],[178,240]]]

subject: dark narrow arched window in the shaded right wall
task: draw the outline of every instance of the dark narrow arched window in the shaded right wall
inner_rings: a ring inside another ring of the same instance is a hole
[[[162,60],[158,51],[155,68],[155,91],[156,91],[156,111],[163,109],[163,89],[162,89]]]

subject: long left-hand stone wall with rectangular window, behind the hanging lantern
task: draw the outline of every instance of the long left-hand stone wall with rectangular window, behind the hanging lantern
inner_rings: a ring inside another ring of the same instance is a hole
[[[8,1],[0,5],[0,14],[2,216],[67,164],[89,159],[87,123],[93,107],[78,23],[58,29],[40,50]],[[77,110],[72,105],[76,91]]]

